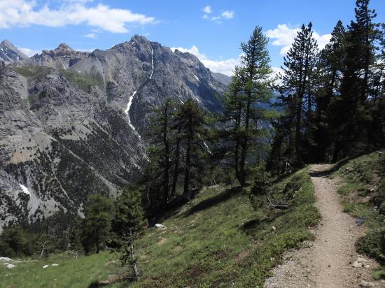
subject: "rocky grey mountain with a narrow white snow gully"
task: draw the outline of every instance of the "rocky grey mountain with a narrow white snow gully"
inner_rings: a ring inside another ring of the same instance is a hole
[[[146,164],[146,127],[170,96],[221,110],[226,86],[189,53],[134,36],[109,50],[66,44],[0,70],[0,226],[118,194]]]

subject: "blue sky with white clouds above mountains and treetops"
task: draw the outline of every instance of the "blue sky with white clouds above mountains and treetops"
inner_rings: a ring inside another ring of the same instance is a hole
[[[385,1],[371,0],[371,6],[385,22]],[[313,22],[325,45],[337,20],[353,19],[354,7],[354,0],[0,0],[0,39],[31,54],[62,42],[107,49],[141,34],[230,74],[255,25],[267,32],[272,66],[279,67],[297,27]]]

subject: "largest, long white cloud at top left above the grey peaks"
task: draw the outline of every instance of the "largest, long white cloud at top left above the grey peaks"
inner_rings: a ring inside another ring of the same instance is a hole
[[[0,0],[0,29],[14,26],[43,25],[64,27],[87,24],[112,33],[127,33],[127,26],[154,24],[154,17],[132,13],[131,10],[110,8],[104,4],[85,6],[86,0],[70,0],[68,5],[51,9],[36,8],[33,0]]]

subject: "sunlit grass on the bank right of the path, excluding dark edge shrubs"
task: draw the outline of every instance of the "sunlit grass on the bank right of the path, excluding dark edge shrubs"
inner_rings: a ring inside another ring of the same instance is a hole
[[[368,252],[379,249],[379,243],[370,235],[385,228],[385,215],[381,215],[379,209],[374,208],[370,203],[380,180],[379,169],[381,168],[378,165],[380,157],[379,152],[374,152],[344,161],[344,164],[331,176],[342,178],[344,182],[338,189],[338,193],[344,198],[345,212],[353,217],[365,217],[364,224],[368,228],[368,233],[363,239],[358,240],[358,250],[366,252],[371,257],[374,255]],[[379,268],[379,271],[374,271],[373,276],[376,279],[384,278],[385,266]]]

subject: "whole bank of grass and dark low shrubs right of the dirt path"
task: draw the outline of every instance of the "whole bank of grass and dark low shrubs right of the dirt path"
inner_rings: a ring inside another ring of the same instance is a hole
[[[340,164],[332,176],[345,183],[338,190],[344,210],[369,229],[356,243],[357,251],[379,261],[381,266],[373,277],[385,279],[385,154],[374,152]]]

